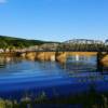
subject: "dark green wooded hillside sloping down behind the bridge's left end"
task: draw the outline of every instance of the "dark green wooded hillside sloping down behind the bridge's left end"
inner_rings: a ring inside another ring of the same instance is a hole
[[[53,43],[53,42],[40,41],[40,40],[27,40],[27,39],[21,39],[21,38],[0,36],[0,49],[13,48],[13,46],[27,48],[30,45],[40,45],[43,43]]]

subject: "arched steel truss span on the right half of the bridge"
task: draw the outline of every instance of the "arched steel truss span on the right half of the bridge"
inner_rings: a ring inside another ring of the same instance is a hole
[[[58,44],[57,51],[108,52],[108,44],[94,40],[69,40]]]

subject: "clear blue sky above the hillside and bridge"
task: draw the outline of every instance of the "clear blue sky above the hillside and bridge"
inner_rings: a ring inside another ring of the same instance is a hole
[[[36,40],[108,38],[108,0],[0,0],[0,35]]]

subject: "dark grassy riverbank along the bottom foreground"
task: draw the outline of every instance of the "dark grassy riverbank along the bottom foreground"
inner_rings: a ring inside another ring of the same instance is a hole
[[[62,107],[62,105],[64,106]],[[54,106],[56,108],[66,108],[67,106],[71,106],[71,108],[108,108],[108,93],[96,93],[94,90],[91,90],[90,93],[50,99],[42,92],[36,99],[26,98],[19,103],[16,100],[0,99],[0,108],[54,108]]]

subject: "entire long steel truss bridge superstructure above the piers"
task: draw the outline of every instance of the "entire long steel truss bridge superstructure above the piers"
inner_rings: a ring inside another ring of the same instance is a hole
[[[108,42],[76,39],[62,43],[45,43],[38,48],[31,46],[16,52],[108,52]]]

